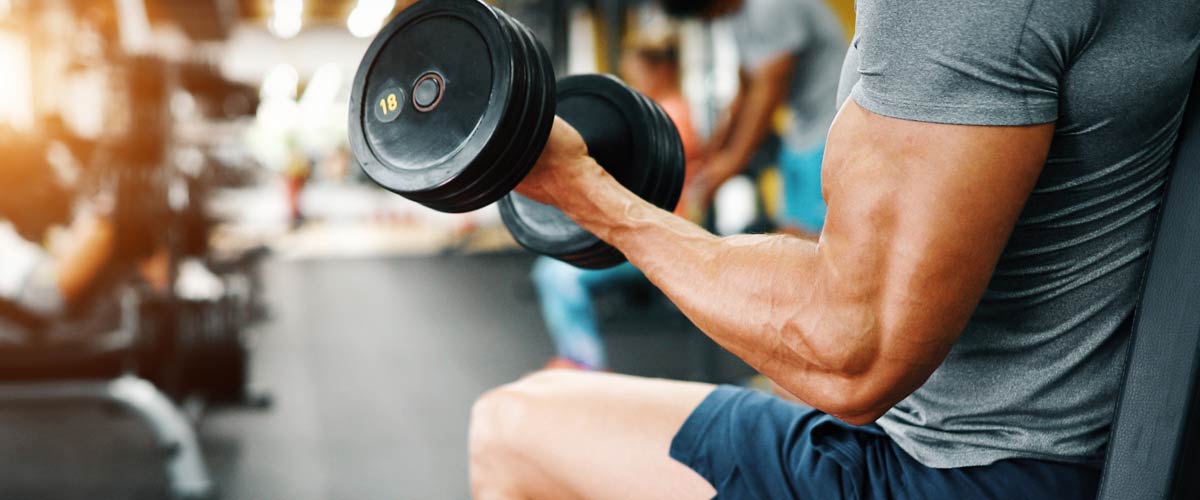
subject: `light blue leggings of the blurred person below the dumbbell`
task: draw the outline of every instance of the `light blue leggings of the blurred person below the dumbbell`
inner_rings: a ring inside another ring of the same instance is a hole
[[[540,257],[533,266],[533,283],[541,301],[558,356],[592,369],[607,367],[592,297],[599,290],[643,282],[632,264],[605,270],[583,270],[560,260]]]

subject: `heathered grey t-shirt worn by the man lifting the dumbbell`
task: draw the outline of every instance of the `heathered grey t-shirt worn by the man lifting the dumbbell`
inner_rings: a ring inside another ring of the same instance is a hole
[[[1100,463],[1198,47],[1194,0],[858,0],[839,102],[926,122],[1056,122],[971,321],[878,422],[917,460]]]

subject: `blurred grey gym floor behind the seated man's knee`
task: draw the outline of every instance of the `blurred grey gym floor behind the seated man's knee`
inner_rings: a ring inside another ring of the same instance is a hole
[[[256,332],[253,379],[274,405],[199,423],[221,498],[468,498],[472,402],[552,351],[530,265],[524,254],[270,263],[275,319]],[[604,319],[617,372],[698,376],[679,353],[708,341],[677,312],[618,311]],[[0,406],[2,499],[160,499],[157,453],[109,408]]]

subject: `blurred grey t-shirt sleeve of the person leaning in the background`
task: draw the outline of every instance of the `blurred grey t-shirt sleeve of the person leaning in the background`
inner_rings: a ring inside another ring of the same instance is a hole
[[[739,64],[756,71],[808,43],[809,19],[797,0],[746,0],[734,20]]]

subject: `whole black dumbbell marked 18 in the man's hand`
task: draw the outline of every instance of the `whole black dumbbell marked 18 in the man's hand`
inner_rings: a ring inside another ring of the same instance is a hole
[[[422,0],[379,31],[354,78],[349,140],[367,176],[396,194],[444,212],[499,201],[523,247],[580,267],[620,264],[563,212],[512,192],[556,114],[618,182],[674,209],[684,155],[666,113],[611,76],[556,82],[533,34],[479,0]]]

